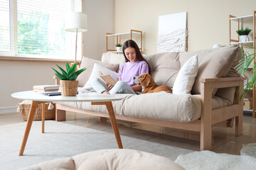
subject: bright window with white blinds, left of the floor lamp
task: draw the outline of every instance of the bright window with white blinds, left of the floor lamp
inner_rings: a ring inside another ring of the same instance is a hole
[[[73,60],[75,33],[65,31],[65,15],[82,12],[85,0],[1,0],[0,56]],[[78,37],[78,59],[81,56]]]

